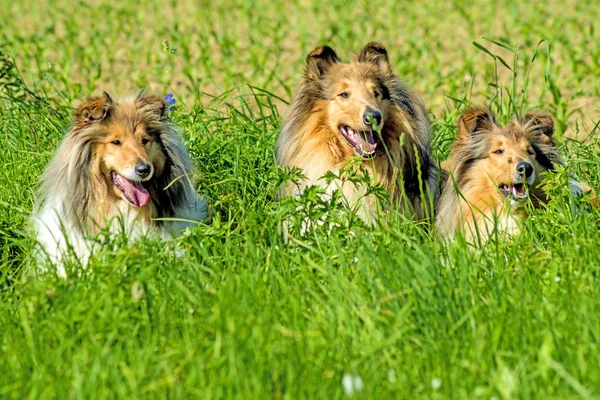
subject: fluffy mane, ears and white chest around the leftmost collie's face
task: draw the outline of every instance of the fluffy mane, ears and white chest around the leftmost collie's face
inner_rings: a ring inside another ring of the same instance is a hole
[[[159,149],[161,168],[154,168],[145,183],[149,201],[144,207],[115,199],[112,182],[102,170],[100,147],[117,123],[131,132],[143,126]],[[196,195],[192,173],[192,162],[161,98],[144,92],[118,101],[106,93],[90,98],[77,109],[42,175],[33,218],[38,241],[54,262],[69,245],[85,261],[91,250],[86,238],[105,227],[111,231],[122,227],[132,239],[176,233],[185,224],[165,219],[206,217],[206,204]],[[113,224],[115,218],[122,218],[124,224]]]

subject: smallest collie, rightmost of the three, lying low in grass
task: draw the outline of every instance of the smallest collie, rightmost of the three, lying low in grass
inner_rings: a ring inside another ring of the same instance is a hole
[[[554,141],[554,121],[530,111],[502,126],[485,108],[466,110],[445,163],[449,177],[437,205],[436,224],[444,238],[465,232],[469,242],[484,242],[496,229],[516,234],[524,203],[546,202],[540,183],[547,171],[564,163]],[[571,180],[574,194],[582,186]]]

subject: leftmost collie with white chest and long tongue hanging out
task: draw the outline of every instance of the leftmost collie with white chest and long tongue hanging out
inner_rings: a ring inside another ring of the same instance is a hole
[[[162,98],[143,92],[119,100],[104,93],[75,112],[42,176],[33,217],[37,240],[61,275],[63,255],[72,250],[86,263],[102,229],[133,240],[170,236],[206,218],[166,109]]]

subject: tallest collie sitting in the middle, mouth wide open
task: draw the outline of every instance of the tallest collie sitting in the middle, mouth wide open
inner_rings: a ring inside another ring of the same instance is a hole
[[[322,179],[358,156],[371,180],[385,188],[384,207],[420,219],[437,181],[430,140],[425,109],[392,71],[383,45],[367,44],[349,64],[330,47],[318,47],[306,57],[276,145],[278,164],[300,168],[305,179],[286,184],[280,196],[297,196],[312,185],[328,194],[340,190],[363,220],[375,221],[377,202],[364,187]]]

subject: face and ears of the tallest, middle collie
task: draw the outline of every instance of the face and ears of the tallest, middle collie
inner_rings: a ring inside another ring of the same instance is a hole
[[[385,48],[370,43],[351,64],[341,62],[328,46],[307,57],[306,79],[316,83],[327,110],[327,123],[356,154],[373,157],[381,149],[379,135],[390,103],[386,79],[391,74]]]

